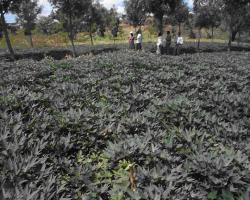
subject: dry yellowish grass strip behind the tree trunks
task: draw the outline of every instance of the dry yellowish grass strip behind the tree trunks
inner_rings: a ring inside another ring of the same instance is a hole
[[[99,37],[96,34],[93,34],[94,44],[113,44],[115,43],[127,43],[127,37],[130,31],[135,29],[128,25],[122,25],[122,34],[118,35],[115,38],[115,41],[110,32],[107,32],[104,37]],[[183,30],[184,38],[186,42],[196,42],[197,39],[188,38],[187,31]],[[206,35],[206,32],[203,31],[203,36]],[[216,38],[214,40],[202,38],[201,42],[216,42],[216,43],[227,43],[227,34],[220,31],[216,32]],[[29,40],[24,35],[23,30],[19,30],[16,34],[10,34],[11,43],[15,48],[30,48]],[[143,42],[156,42],[157,36],[152,33],[150,27],[143,28]],[[60,32],[53,35],[45,35],[34,31],[33,33],[33,43],[35,47],[51,47],[51,46],[68,46],[71,45],[68,39],[67,33]],[[79,33],[75,40],[76,45],[81,44],[91,44],[90,36],[86,32]],[[7,48],[4,38],[0,40],[0,48]]]

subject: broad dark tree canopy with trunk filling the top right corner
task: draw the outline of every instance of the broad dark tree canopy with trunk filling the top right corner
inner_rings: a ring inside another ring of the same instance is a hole
[[[249,0],[195,0],[196,26],[217,27],[222,22],[228,31],[228,49],[236,34],[247,30],[250,23]]]

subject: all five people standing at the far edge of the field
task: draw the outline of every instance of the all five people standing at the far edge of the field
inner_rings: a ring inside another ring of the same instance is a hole
[[[136,42],[135,42],[135,36],[133,32],[130,32],[129,36],[129,49],[136,49],[136,50],[141,50],[142,49],[142,34],[141,31],[137,31],[136,33]],[[171,43],[172,43],[172,36],[170,31],[167,31],[167,35],[164,38],[162,32],[158,33],[158,39],[157,39],[157,48],[156,48],[156,53],[157,54],[170,54],[170,49],[171,49]],[[183,37],[181,36],[181,33],[178,33],[178,36],[175,39],[175,48],[174,48],[174,55],[179,55],[181,46],[183,45],[184,40]]]

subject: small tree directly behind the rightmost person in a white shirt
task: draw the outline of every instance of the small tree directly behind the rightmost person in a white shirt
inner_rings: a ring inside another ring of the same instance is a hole
[[[174,12],[174,21],[177,22],[179,32],[181,32],[181,24],[188,20],[189,10],[187,4],[180,2]]]

